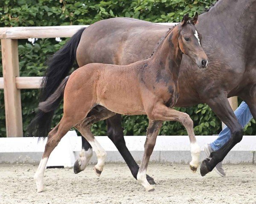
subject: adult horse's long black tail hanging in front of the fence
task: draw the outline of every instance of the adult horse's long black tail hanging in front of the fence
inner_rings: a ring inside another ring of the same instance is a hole
[[[48,68],[41,84],[40,102],[44,102],[51,96],[61,84],[61,81],[69,74],[76,60],[76,49],[85,28],[81,28],[71,39],[57,51],[48,61]],[[53,113],[61,102],[61,96],[52,104],[53,110],[44,112],[38,110],[35,118],[28,126],[29,136],[47,137],[52,123]]]

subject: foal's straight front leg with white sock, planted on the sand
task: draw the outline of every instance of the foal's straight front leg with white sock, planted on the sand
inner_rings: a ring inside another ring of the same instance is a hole
[[[137,174],[137,180],[145,187],[146,191],[154,191],[154,187],[148,183],[146,171],[148,168],[148,161],[153,152],[154,146],[156,144],[157,135],[159,133],[160,127],[163,121],[149,120],[147,138],[144,144],[144,155],[142,162],[140,164],[140,169]]]

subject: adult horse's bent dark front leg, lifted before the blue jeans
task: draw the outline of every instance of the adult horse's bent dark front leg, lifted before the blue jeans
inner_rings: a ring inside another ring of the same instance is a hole
[[[231,138],[220,149],[212,152],[210,159],[204,159],[204,161],[202,161],[200,167],[201,176],[205,176],[212,171],[214,167],[225,158],[227,153],[243,138],[243,129],[236,119],[226,96],[207,99],[206,102],[218,118],[230,128]]]

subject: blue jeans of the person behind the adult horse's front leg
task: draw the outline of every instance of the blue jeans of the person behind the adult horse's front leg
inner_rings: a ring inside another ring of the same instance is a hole
[[[253,118],[248,105],[244,101],[241,102],[241,105],[239,105],[234,113],[236,115],[236,118],[238,119],[239,124],[243,128]],[[225,126],[224,129],[219,133],[218,138],[214,142],[210,143],[212,150],[217,151],[230,139],[230,137],[230,129]]]

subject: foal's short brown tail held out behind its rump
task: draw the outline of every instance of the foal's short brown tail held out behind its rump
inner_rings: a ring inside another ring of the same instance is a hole
[[[58,108],[58,106],[59,106],[58,99],[62,98],[62,96],[64,94],[64,89],[66,87],[69,77],[70,76],[68,76],[62,80],[61,84],[56,89],[56,91],[54,91],[54,93],[46,101],[39,103],[38,109],[40,111],[43,111],[44,113],[49,113],[51,111],[55,111],[55,109]]]

